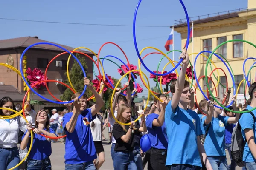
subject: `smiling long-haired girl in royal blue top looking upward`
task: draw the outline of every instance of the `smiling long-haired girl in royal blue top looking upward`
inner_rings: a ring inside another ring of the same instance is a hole
[[[22,142],[20,144],[21,149],[25,147],[30,147],[30,131],[34,133],[33,136],[33,146],[29,153],[29,160],[27,164],[27,170],[51,170],[52,165],[49,159],[49,156],[52,154],[51,139],[41,136],[44,134],[50,137],[56,137],[55,131],[52,128],[49,128],[50,119],[47,112],[43,109],[38,111],[36,114],[35,128],[33,129],[32,125],[27,123],[27,130],[23,135]],[[57,141],[58,139],[52,139]]]

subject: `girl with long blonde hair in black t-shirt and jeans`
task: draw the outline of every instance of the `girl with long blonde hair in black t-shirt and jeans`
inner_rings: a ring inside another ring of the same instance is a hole
[[[131,107],[122,104],[118,107],[116,119],[122,123],[131,121]],[[113,136],[116,139],[114,170],[137,170],[134,161],[134,134],[146,132],[145,114],[141,117],[143,122],[141,126],[135,125],[131,121],[131,125],[120,125],[117,122],[113,125]]]

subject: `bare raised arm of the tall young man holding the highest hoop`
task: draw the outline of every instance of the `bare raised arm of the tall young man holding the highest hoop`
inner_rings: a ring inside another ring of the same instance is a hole
[[[183,61],[182,61],[180,75],[179,75],[179,77],[177,78],[177,81],[176,81],[175,93],[173,94],[173,97],[172,97],[172,103],[171,103],[172,111],[175,111],[175,109],[177,108],[177,106],[179,104],[179,101],[180,101],[180,96],[181,96],[182,91],[184,89],[186,69],[189,65],[189,54],[186,51],[186,49],[184,49],[182,51],[182,53],[180,54],[179,59],[183,59]]]

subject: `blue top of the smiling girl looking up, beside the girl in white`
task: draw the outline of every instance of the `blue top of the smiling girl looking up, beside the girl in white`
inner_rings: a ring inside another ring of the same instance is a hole
[[[44,129],[44,130],[46,130],[46,129]],[[26,130],[26,132],[22,136],[22,140],[25,137],[27,131],[28,130]],[[55,131],[52,128],[50,128],[50,133],[53,133],[56,135]],[[33,134],[34,134],[33,144],[32,144],[31,151],[29,153],[29,158],[35,159],[35,160],[44,160],[44,159],[48,158],[52,154],[51,140],[48,141],[44,136],[41,136],[41,135],[35,134],[35,133],[33,133]],[[56,135],[56,136],[58,137],[58,135]],[[29,137],[31,137],[31,135],[29,135]],[[28,149],[30,147],[30,141],[31,141],[31,139],[29,139],[29,142],[28,142],[28,146],[27,146]]]

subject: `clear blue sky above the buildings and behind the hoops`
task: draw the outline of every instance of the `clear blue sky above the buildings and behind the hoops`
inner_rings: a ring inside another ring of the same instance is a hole
[[[55,0],[55,1],[1,1],[0,18],[21,20],[42,20],[70,23],[132,25],[137,0]],[[247,7],[247,0],[183,0],[189,17],[195,17],[215,12],[228,11]],[[137,27],[137,44],[139,51],[147,46],[153,46],[166,52],[164,44],[170,34],[169,26],[175,20],[185,18],[179,0],[142,0],[137,14],[137,25],[166,26],[166,27]],[[35,23],[25,21],[1,20],[0,39],[15,37],[38,36],[40,39],[69,45],[74,48],[84,46],[96,53],[105,42],[118,44],[129,58],[129,62],[138,65],[138,57],[134,48],[131,26],[88,26],[55,23]],[[175,49],[181,49],[180,34],[175,32]],[[172,47],[171,47],[172,48]],[[145,50],[143,56],[154,50]],[[199,51],[198,51],[199,52]],[[113,45],[106,45],[101,51],[101,57],[113,55],[125,61],[125,57]],[[172,57],[172,54],[169,55]],[[54,56],[52,56],[54,57]],[[175,53],[175,60],[179,57]],[[157,69],[161,56],[153,54],[145,58],[145,64],[152,71]],[[116,61],[121,65],[121,62]],[[126,61],[125,61],[126,62]],[[166,64],[163,60],[160,70]],[[105,71],[112,77],[120,78],[117,66],[105,61]],[[172,66],[166,67],[169,71]],[[149,78],[149,73],[142,68]],[[122,82],[125,82],[123,79]],[[141,80],[137,81],[139,84]],[[155,82],[150,80],[150,85]],[[142,85],[143,86],[143,85]],[[147,96],[148,90],[143,86],[143,93]]]

